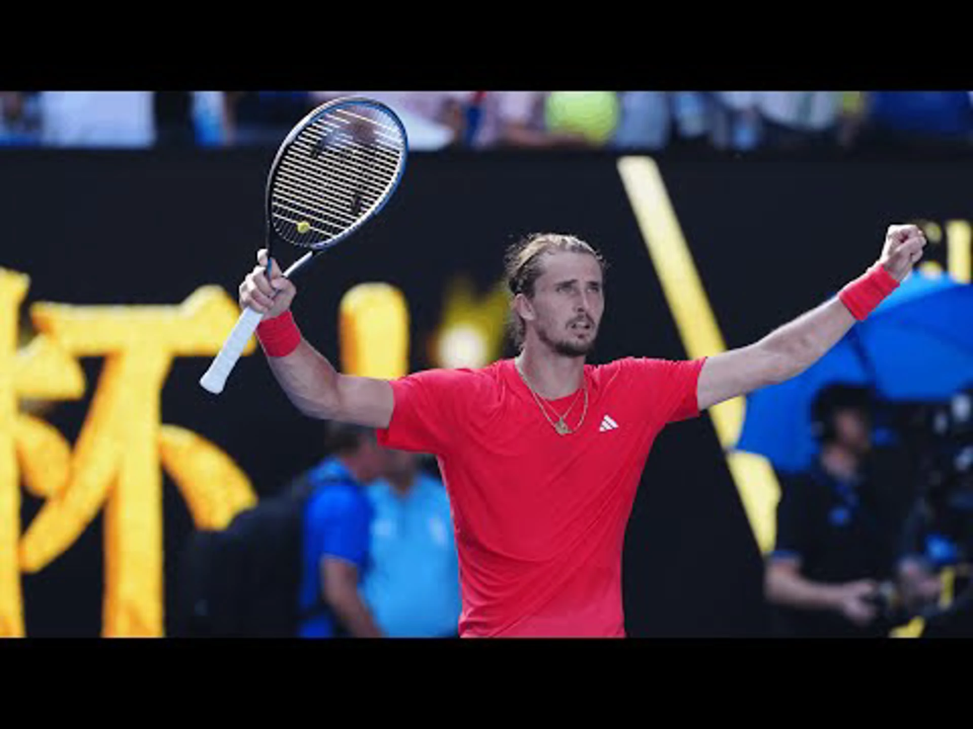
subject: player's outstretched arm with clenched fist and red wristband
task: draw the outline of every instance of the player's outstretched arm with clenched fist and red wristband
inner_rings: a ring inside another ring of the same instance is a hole
[[[697,385],[700,409],[789,380],[817,362],[895,290],[924,246],[919,227],[889,226],[882,257],[839,295],[754,344],[708,358]]]

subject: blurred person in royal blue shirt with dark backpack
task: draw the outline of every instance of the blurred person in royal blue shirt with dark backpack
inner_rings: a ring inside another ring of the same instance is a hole
[[[331,454],[306,475],[318,484],[304,512],[300,608],[301,638],[380,638],[362,599],[369,573],[372,505],[364,484],[385,468],[387,451],[375,431],[331,422],[325,443]]]

